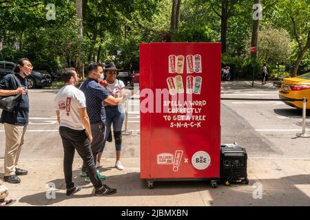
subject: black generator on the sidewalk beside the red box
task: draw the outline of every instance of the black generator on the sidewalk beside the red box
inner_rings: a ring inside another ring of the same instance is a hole
[[[220,181],[249,184],[247,179],[247,151],[238,144],[220,144]]]

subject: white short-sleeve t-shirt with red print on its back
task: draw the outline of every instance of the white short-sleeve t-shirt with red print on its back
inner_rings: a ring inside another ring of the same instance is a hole
[[[54,99],[56,110],[60,113],[59,126],[74,130],[83,130],[79,109],[86,107],[83,91],[73,85],[62,87]]]

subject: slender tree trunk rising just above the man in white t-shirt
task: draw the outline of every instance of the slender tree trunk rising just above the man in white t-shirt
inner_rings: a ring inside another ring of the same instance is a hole
[[[76,0],[75,2],[76,9],[76,17],[79,19],[79,38],[81,40],[81,45],[83,43],[83,0]],[[84,73],[82,70],[81,56],[82,56],[82,48],[79,46],[79,52],[76,57],[76,72],[84,78]]]

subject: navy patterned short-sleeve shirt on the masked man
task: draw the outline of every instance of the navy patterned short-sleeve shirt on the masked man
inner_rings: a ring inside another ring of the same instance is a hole
[[[87,78],[80,89],[86,98],[86,109],[88,117],[90,117],[90,124],[105,122],[105,108],[102,106],[102,102],[109,96],[107,89],[92,78]]]

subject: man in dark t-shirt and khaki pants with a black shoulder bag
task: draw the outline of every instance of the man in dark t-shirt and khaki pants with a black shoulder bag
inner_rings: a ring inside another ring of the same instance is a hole
[[[14,72],[6,75],[0,81],[0,96],[21,95],[21,100],[13,112],[3,110],[0,123],[4,124],[6,132],[6,152],[4,155],[4,181],[18,184],[18,175],[27,175],[27,170],[18,168],[17,162],[24,143],[24,135],[28,124],[29,99],[27,80],[32,71],[28,58],[22,58],[15,65]]]

